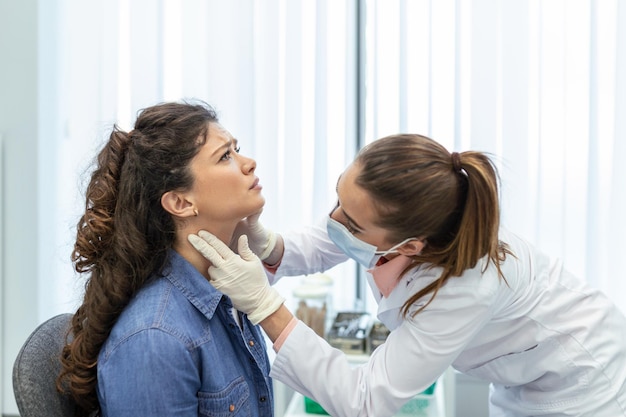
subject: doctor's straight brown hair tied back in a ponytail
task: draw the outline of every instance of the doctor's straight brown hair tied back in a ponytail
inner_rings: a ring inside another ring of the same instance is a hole
[[[355,164],[360,167],[356,183],[372,197],[377,225],[388,231],[388,240],[424,239],[426,246],[413,257],[412,266],[443,268],[437,280],[406,301],[404,315],[432,293],[414,314],[419,313],[450,277],[460,276],[485,256],[485,265],[493,262],[502,277],[500,262],[510,252],[498,240],[499,178],[486,154],[450,154],[430,138],[400,134],[370,143]]]

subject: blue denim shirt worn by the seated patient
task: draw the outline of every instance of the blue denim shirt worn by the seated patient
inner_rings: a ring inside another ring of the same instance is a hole
[[[273,415],[265,340],[189,262],[169,267],[124,309],[98,356],[106,416]]]

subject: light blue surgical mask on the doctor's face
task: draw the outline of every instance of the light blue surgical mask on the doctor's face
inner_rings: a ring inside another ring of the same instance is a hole
[[[414,237],[410,237],[386,251],[379,251],[376,246],[370,245],[355,237],[343,224],[330,216],[328,216],[328,221],[326,222],[326,229],[328,230],[330,240],[332,240],[342,252],[366,269],[372,269],[381,256],[396,253],[400,246],[415,239]]]

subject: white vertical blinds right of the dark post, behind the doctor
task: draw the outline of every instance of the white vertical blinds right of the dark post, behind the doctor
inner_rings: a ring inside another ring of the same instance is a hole
[[[366,4],[366,142],[408,130],[493,154],[503,223],[626,311],[626,5]]]

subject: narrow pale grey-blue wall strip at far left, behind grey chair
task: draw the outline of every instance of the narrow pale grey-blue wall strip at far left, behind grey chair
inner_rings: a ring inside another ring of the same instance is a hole
[[[0,1],[0,132],[3,254],[0,281],[0,404],[17,414],[11,370],[38,322],[38,79],[36,0]],[[19,42],[16,40],[19,39]],[[32,301],[32,302],[30,302]]]

